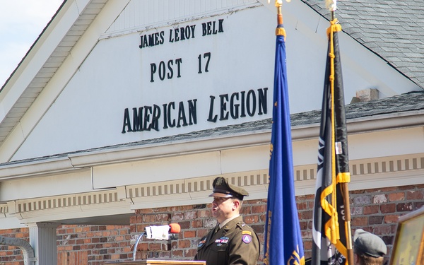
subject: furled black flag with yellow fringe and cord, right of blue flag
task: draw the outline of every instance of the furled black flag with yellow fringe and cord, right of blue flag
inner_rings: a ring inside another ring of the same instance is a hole
[[[341,25],[334,19],[327,30],[329,47],[322,99],[317,191],[312,228],[314,265],[348,264],[348,249],[352,249],[347,190],[347,183],[350,182],[348,139],[338,31],[341,31]]]

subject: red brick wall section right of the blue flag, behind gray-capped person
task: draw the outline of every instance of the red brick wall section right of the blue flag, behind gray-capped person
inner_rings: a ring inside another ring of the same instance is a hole
[[[424,206],[424,184],[351,191],[349,199],[353,232],[363,228],[379,235],[388,247],[389,259],[399,216]],[[310,257],[314,196],[298,196],[297,200],[305,257]]]

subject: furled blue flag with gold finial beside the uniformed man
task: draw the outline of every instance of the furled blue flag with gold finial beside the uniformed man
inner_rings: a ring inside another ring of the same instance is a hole
[[[278,16],[281,16],[281,12],[278,12]],[[305,264],[305,255],[295,202],[290,109],[285,66],[285,31],[282,20],[282,17],[281,20],[278,19],[276,30],[273,124],[264,263],[267,265],[302,265]]]

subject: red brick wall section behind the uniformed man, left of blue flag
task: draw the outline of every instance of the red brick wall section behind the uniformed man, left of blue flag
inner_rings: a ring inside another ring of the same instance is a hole
[[[153,208],[136,211],[131,218],[131,234],[137,235],[148,225],[178,223],[181,226],[179,240],[170,245],[160,241],[143,240],[137,247],[136,259],[193,259],[200,237],[216,226],[216,219],[210,215],[211,204]],[[245,201],[242,207],[245,223],[259,234],[264,241],[266,200]],[[133,236],[134,237],[134,236]]]

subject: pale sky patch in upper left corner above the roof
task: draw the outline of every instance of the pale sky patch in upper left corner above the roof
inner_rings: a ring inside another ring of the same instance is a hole
[[[0,0],[0,88],[63,0]]]

